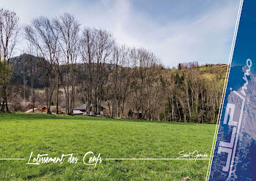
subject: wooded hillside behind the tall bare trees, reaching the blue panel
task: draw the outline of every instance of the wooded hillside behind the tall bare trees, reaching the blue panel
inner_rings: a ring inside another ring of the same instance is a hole
[[[20,90],[23,101],[23,70],[25,70],[26,109],[31,104],[31,80],[35,89],[35,106],[43,106],[45,96],[45,72],[39,66],[40,58],[23,54],[11,58],[13,68],[12,82]],[[75,71],[75,106],[85,104],[88,63],[78,63]],[[94,64],[96,69],[97,63]],[[102,88],[101,104],[108,109],[111,117],[133,117],[148,120],[165,120],[180,122],[215,123],[225,80],[227,66],[180,63],[177,69],[165,69],[155,66],[154,69],[141,72],[138,67],[125,67],[106,64],[108,77]],[[62,65],[64,70],[64,65]],[[61,71],[62,77],[65,72]],[[32,77],[31,77],[32,75]],[[93,77],[95,79],[95,77]],[[97,80],[94,80],[97,81]],[[59,84],[60,90],[64,90]],[[141,90],[143,89],[143,91]],[[17,90],[16,90],[17,91]],[[64,95],[59,95],[59,110],[64,110]],[[52,105],[56,105],[56,92]],[[145,101],[143,101],[145,99]],[[40,102],[43,101],[43,102]],[[20,104],[16,102],[15,104]],[[23,111],[20,104],[18,111]]]

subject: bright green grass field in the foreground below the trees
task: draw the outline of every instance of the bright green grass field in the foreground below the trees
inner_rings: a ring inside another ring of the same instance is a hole
[[[114,120],[82,116],[0,114],[0,180],[205,180],[208,161],[107,161],[105,158],[178,158],[198,150],[211,154],[215,125]],[[97,167],[83,155],[101,154]],[[27,165],[31,152],[78,163]]]

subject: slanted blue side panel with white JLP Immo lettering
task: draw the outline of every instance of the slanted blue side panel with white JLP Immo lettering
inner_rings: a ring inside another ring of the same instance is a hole
[[[208,180],[256,180],[256,1],[244,0]]]

